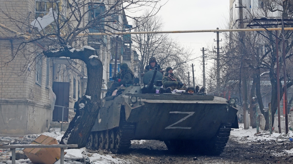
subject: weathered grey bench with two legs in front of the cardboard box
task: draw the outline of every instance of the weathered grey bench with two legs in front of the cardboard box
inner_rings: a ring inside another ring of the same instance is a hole
[[[5,145],[0,146],[0,148],[9,148],[12,151],[11,162],[15,164],[15,149],[16,148],[60,148],[60,164],[64,164],[64,148],[68,147],[78,147],[77,144],[71,145],[42,145],[42,144],[15,144],[15,145]]]

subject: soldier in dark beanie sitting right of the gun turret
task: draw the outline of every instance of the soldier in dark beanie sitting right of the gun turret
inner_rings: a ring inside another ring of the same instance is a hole
[[[172,67],[166,68],[166,73],[162,79],[162,84],[164,88],[170,87],[172,90],[185,87],[180,79],[174,76]]]

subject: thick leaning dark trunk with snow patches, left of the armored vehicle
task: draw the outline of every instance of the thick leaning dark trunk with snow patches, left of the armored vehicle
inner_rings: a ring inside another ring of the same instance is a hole
[[[101,105],[102,62],[97,57],[90,59],[91,55],[96,55],[96,50],[87,48],[84,48],[84,51],[74,51],[74,53],[65,51],[59,53],[59,55],[57,53],[44,54],[47,57],[65,56],[71,59],[80,59],[86,64],[88,77],[86,93],[79,100],[79,114],[76,114],[73,121],[69,123],[69,127],[60,142],[60,144],[78,144],[78,148],[85,147]]]

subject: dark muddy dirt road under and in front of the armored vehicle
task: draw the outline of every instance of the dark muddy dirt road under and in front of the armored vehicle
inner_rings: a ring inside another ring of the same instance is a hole
[[[293,156],[280,155],[278,149],[283,144],[274,141],[258,141],[254,143],[239,144],[234,136],[229,141],[220,156],[203,156],[200,154],[171,154],[168,152],[164,142],[146,141],[142,144],[132,143],[132,152],[128,154],[117,154],[118,158],[132,159],[135,163],[292,163]],[[292,143],[291,143],[292,145]],[[288,147],[289,149],[289,147]],[[279,153],[279,154],[277,154]]]

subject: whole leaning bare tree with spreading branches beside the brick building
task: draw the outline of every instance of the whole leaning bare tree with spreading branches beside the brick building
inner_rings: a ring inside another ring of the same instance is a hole
[[[5,20],[3,24],[11,29],[1,31],[2,34],[7,38],[15,38],[13,34],[10,34],[13,32],[17,34],[17,38],[23,39],[19,41],[11,59],[16,55],[23,55],[30,60],[31,57],[27,54],[33,54],[35,45],[38,44],[43,48],[42,54],[46,57],[68,57],[81,60],[86,64],[88,75],[86,96],[79,101],[79,114],[75,116],[74,121],[70,122],[61,144],[86,146],[91,128],[99,113],[103,65],[96,50],[85,46],[88,37],[92,37],[89,32],[124,31],[123,23],[117,20],[117,15],[122,15],[125,19],[142,21],[159,11],[161,7],[159,2],[160,0],[101,0],[99,3],[81,0],[46,1],[44,6],[53,18],[48,26],[42,26],[40,19],[30,24],[35,18],[44,18],[46,12],[41,13],[36,10],[36,13],[32,14],[28,8],[23,13],[15,11],[11,15],[12,12],[7,10],[7,6],[13,6],[13,4],[7,2],[6,6],[1,5],[0,12],[4,15],[1,19]],[[37,3],[36,7],[38,5]],[[141,7],[150,7],[152,11],[149,15],[139,17],[126,14],[140,10]],[[50,11],[49,8],[51,8]],[[90,31],[93,29],[94,31]]]

